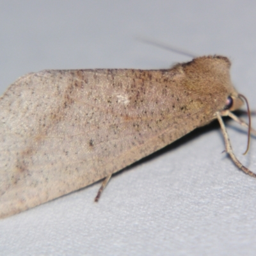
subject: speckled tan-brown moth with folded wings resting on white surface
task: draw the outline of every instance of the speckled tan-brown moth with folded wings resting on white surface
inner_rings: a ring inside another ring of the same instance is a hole
[[[104,179],[243,105],[230,61],[202,56],[164,70],[44,70],[0,98],[0,218]]]

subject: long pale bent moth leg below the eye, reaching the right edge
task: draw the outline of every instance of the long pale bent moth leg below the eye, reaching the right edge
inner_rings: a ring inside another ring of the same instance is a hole
[[[227,129],[225,127],[225,124],[221,118],[221,115],[219,112],[216,112],[216,116],[218,118],[218,121],[220,123],[220,127],[221,127],[221,131],[224,137],[224,141],[225,141],[225,147],[226,147],[226,152],[229,154],[229,156],[231,157],[232,161],[234,162],[234,164],[236,164],[236,166],[241,169],[244,173],[255,177],[256,178],[256,174],[251,172],[248,168],[246,168],[245,166],[243,166],[243,164],[241,164],[239,162],[239,160],[236,158],[236,156],[234,155],[234,152],[232,150],[231,144],[230,144],[230,140],[228,138],[228,133],[227,133]]]

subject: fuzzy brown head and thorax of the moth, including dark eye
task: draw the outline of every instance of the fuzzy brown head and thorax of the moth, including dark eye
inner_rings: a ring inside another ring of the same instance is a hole
[[[243,100],[230,79],[231,63],[224,56],[203,56],[181,65],[186,79],[184,87],[204,99],[215,110],[234,111]]]

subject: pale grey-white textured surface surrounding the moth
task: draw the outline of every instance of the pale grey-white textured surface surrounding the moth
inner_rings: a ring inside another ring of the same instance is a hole
[[[172,3],[170,3],[172,2]],[[0,1],[0,85],[45,68],[166,68],[188,58],[134,40],[224,54],[256,109],[255,1]],[[253,118],[256,127],[255,117]],[[228,132],[256,172],[256,141]],[[213,125],[100,183],[0,220],[1,255],[255,255],[256,180]]]

